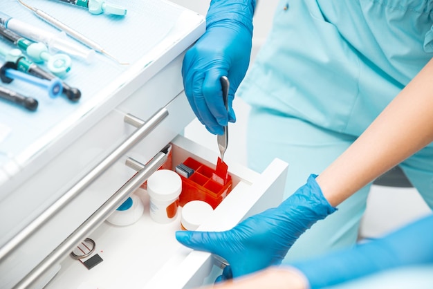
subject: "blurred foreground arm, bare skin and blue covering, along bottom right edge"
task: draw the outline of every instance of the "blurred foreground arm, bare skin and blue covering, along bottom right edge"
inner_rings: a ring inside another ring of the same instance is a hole
[[[293,263],[292,267],[270,267],[212,288],[316,289],[353,281],[392,268],[432,265],[432,227],[433,215],[430,215],[381,239]]]

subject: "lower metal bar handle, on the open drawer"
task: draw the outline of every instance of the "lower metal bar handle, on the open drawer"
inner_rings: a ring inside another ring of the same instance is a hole
[[[86,235],[95,230],[117,207],[119,207],[133,191],[138,189],[151,174],[154,173],[167,160],[167,154],[159,152],[147,165],[130,159],[142,167],[137,174],[122,185],[99,209],[97,209],[80,227],[77,228],[66,240],[48,255],[35,269],[22,279],[15,288],[29,288],[40,276],[43,276],[53,265],[62,261],[62,258],[75,248],[77,243],[84,240]]]

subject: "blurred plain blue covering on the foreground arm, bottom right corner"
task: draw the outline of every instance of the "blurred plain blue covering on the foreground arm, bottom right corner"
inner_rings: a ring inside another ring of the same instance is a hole
[[[312,289],[332,286],[405,265],[433,264],[433,215],[382,239],[292,264]]]

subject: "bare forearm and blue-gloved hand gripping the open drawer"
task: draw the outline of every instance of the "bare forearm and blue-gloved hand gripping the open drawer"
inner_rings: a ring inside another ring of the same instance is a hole
[[[234,277],[279,264],[300,234],[331,214],[333,206],[433,142],[432,76],[430,60],[340,158],[279,207],[232,230],[178,232],[176,238],[228,260]]]

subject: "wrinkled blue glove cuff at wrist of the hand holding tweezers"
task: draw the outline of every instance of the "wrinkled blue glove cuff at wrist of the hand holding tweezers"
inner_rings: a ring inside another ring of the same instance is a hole
[[[252,35],[255,6],[255,0],[212,0],[206,15],[206,29],[221,21],[234,21],[245,26]]]

